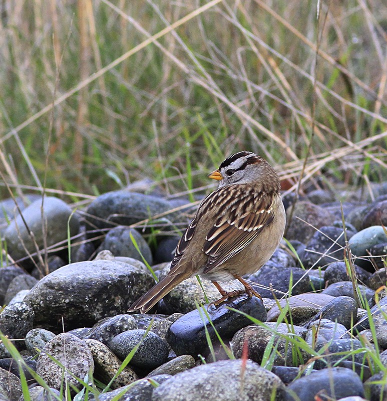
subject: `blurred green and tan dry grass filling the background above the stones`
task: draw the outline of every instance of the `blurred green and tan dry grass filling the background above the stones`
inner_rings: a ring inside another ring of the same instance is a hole
[[[0,8],[1,198],[143,177],[176,193],[243,149],[289,185],[387,178],[384,0]]]

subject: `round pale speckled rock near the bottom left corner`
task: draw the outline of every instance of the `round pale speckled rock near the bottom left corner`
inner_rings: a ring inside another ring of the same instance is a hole
[[[59,361],[67,370],[64,371],[52,358]],[[50,387],[57,390],[64,385],[65,379],[69,384],[81,388],[82,384],[68,371],[84,379],[88,373],[93,373],[94,361],[84,341],[73,334],[61,333],[50,340],[39,354],[37,373]]]

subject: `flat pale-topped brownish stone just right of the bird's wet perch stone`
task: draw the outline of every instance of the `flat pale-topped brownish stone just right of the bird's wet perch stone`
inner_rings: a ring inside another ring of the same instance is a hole
[[[289,305],[294,324],[303,323],[318,313],[323,306],[334,298],[323,294],[300,294],[281,299],[279,306],[275,303],[267,313],[268,322],[276,322],[282,309]]]

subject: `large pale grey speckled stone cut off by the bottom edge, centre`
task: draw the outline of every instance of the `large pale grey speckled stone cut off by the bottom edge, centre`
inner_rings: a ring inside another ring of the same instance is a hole
[[[172,376],[153,391],[152,401],[280,401],[281,380],[255,362],[222,360]]]

